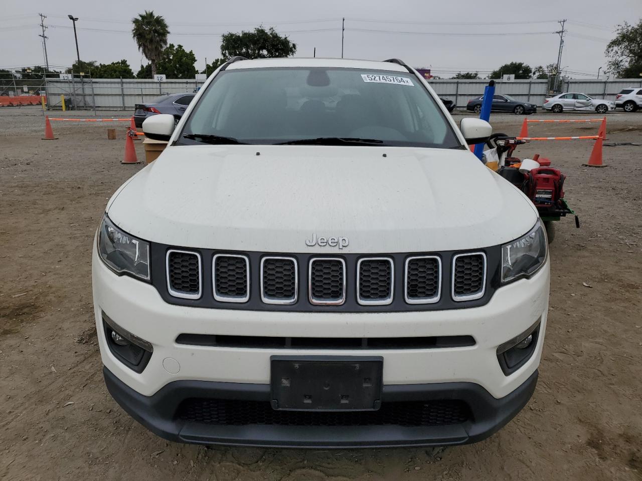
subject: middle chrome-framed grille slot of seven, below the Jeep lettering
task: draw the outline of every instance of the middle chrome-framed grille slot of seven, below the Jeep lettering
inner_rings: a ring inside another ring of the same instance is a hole
[[[345,302],[345,261],[340,257],[311,258],[308,272],[309,300],[317,305]]]

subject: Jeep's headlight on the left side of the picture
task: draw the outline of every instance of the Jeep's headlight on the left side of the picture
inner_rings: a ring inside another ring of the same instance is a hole
[[[107,215],[98,229],[98,255],[116,274],[150,280],[150,244],[117,228]]]

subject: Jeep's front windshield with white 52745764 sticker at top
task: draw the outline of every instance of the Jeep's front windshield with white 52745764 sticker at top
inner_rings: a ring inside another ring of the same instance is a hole
[[[244,144],[314,139],[333,145],[340,139],[361,145],[367,140],[379,146],[461,147],[435,100],[412,74],[317,67],[217,74],[178,143],[214,139]]]

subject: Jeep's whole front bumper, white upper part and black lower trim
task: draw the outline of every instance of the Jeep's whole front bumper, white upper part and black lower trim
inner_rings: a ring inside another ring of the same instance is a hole
[[[546,329],[550,264],[530,279],[505,285],[480,307],[379,313],[279,312],[170,305],[152,285],[116,276],[94,247],[92,283],[98,343],[107,387],[116,401],[153,432],[191,443],[261,446],[394,446],[462,444],[483,439],[507,423],[530,398]],[[110,351],[102,312],[144,339],[153,353],[142,372]],[[528,360],[505,375],[498,346],[539,320]],[[182,333],[268,337],[471,336],[473,346],[395,349],[214,347],[179,344]],[[181,421],[186,398],[268,400],[270,357],[381,356],[383,397],[397,400],[464,400],[471,416],[440,426],[208,425]]]

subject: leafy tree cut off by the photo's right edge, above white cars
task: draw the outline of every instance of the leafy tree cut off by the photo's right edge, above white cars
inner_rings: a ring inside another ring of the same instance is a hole
[[[604,51],[608,70],[620,78],[639,78],[642,74],[642,20],[636,25],[618,25],[616,36]]]

